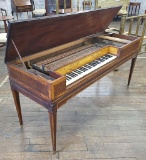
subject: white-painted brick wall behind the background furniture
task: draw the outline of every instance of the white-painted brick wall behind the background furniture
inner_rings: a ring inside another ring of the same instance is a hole
[[[44,8],[45,7],[45,0],[34,0],[36,8]],[[75,1],[75,0],[73,0]],[[110,1],[110,0],[107,0]],[[116,0],[118,1],[118,0]],[[130,0],[131,2],[141,2],[140,14],[143,14],[146,10],[146,0]],[[75,2],[74,2],[75,3]],[[8,15],[11,15],[11,0],[0,0],[0,7],[7,10]],[[14,15],[15,16],[15,15]],[[21,19],[26,19],[26,13],[19,13]],[[31,18],[31,14],[29,14]],[[3,23],[0,22],[0,28],[3,28]]]

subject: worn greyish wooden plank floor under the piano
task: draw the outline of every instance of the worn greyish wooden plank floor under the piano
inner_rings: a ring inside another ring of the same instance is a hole
[[[24,125],[19,125],[4,55],[5,47],[0,48],[0,160],[146,160],[146,53],[138,56],[129,88],[127,62],[58,110],[55,155],[48,113],[23,95]]]

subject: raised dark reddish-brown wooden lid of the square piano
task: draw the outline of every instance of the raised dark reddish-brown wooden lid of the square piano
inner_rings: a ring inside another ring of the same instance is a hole
[[[32,55],[82,37],[103,32],[120,9],[121,6],[117,6],[11,22],[9,24],[5,63],[19,57],[12,40],[21,57]]]

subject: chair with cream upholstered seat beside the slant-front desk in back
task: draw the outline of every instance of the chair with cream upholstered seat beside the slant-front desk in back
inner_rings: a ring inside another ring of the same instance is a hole
[[[34,0],[31,0],[31,4],[33,6],[33,11],[32,11],[33,17],[46,15],[46,9],[36,9],[35,8]]]

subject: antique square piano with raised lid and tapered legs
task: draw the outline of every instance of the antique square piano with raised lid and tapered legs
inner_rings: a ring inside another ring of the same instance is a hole
[[[5,63],[20,125],[19,92],[47,109],[53,151],[59,107],[128,60],[130,83],[140,38],[105,32],[120,8],[9,24]]]

